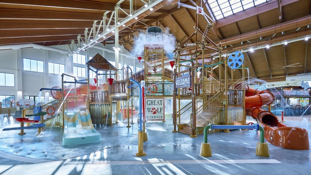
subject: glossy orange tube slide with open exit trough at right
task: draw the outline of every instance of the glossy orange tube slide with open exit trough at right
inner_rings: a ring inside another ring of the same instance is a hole
[[[274,95],[268,90],[245,87],[245,108],[248,116],[258,119],[265,130],[265,138],[273,145],[287,149],[309,149],[308,131],[304,128],[289,127],[281,124],[278,118],[263,105],[274,102]]]

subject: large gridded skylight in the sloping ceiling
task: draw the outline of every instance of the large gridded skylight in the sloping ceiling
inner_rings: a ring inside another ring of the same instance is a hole
[[[219,20],[270,0],[204,0],[206,1],[216,19]]]

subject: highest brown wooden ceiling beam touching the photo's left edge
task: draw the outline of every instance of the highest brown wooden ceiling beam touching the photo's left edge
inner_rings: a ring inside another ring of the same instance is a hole
[[[102,14],[0,9],[0,19],[102,20]]]

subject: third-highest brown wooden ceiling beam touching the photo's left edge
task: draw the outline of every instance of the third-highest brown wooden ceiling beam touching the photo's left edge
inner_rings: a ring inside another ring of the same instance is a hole
[[[55,36],[55,35],[84,35],[84,29],[42,29],[42,30],[2,30],[0,38]]]

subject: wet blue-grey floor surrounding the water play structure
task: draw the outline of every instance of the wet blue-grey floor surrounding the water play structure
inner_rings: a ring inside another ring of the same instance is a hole
[[[291,150],[268,143],[270,157],[259,157],[256,146],[259,131],[231,130],[208,134],[212,157],[200,156],[203,135],[191,138],[173,133],[171,118],[148,121],[146,156],[137,157],[137,124],[127,121],[114,126],[94,125],[102,141],[63,146],[63,130],[46,127],[42,135],[36,129],[3,131],[0,137],[0,174],[152,174],[152,175],[227,175],[227,174],[311,174],[311,151]],[[309,131],[311,118],[285,117],[283,123]],[[11,126],[8,126],[11,127]],[[265,140],[267,142],[267,140]]]

